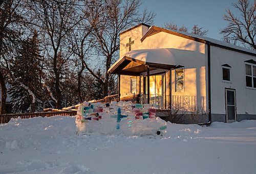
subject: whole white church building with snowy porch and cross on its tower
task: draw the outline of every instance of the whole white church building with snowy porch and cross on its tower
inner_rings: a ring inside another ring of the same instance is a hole
[[[120,34],[120,97],[160,108],[195,108],[207,121],[256,119],[256,51],[208,37],[139,24]]]

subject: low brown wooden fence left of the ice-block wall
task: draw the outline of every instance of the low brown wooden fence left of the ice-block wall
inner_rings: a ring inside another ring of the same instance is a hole
[[[62,112],[46,112],[46,113],[24,113],[24,114],[3,114],[0,115],[0,123],[8,123],[11,118],[34,118],[34,117],[52,117],[55,115],[61,116],[75,116],[76,111],[62,111]]]

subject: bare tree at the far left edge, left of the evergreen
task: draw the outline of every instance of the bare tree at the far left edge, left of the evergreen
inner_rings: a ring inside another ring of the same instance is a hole
[[[8,62],[13,57],[22,35],[24,24],[23,12],[20,10],[22,1],[9,0],[0,2],[0,85],[1,85],[1,114],[6,113],[6,75]]]

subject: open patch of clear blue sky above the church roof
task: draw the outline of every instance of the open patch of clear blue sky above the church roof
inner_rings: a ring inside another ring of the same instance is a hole
[[[220,40],[220,30],[227,22],[223,20],[225,10],[232,7],[237,0],[144,0],[143,8],[156,13],[155,26],[163,27],[172,21],[178,26],[186,26],[189,31],[194,25],[208,30],[207,37]],[[251,0],[251,2],[253,2]]]

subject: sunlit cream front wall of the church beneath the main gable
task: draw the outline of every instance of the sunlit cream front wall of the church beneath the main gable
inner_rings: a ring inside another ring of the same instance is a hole
[[[206,57],[205,44],[189,40],[176,35],[160,32],[152,36],[146,37],[141,49],[156,49],[156,48],[174,48],[188,51],[199,52],[196,57],[191,57],[191,61],[180,60],[180,64],[184,66],[184,91],[176,92],[175,89],[175,70],[172,71],[172,95],[184,96],[186,100],[193,99],[190,105],[202,107],[206,110]],[[201,53],[201,54],[200,54]],[[168,73],[166,79],[168,79]],[[169,85],[166,81],[166,95],[169,95]],[[173,98],[173,100],[177,100]],[[175,102],[175,101],[173,101]],[[196,103],[195,103],[196,102]]]

